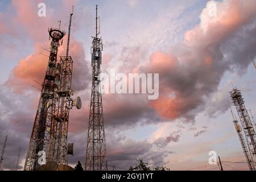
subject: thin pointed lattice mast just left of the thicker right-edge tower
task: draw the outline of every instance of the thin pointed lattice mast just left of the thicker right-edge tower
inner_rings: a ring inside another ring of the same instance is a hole
[[[231,107],[230,107],[230,111],[231,111],[231,114],[233,116],[233,123],[234,123],[234,126],[236,128],[237,135],[238,135],[238,138],[240,140],[240,143],[241,143],[241,146],[242,146],[242,149],[243,149],[243,153],[245,154],[245,158],[246,158],[248,167],[251,171],[253,171],[253,170],[255,170],[255,168],[254,168],[253,162],[251,160],[251,156],[248,153],[246,143],[245,143],[245,139],[243,138],[241,126],[238,124],[237,118],[234,117],[234,114],[233,114],[233,111],[232,111]]]

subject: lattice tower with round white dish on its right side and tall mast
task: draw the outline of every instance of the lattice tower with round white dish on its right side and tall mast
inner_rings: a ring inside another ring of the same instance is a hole
[[[72,75],[73,75],[73,59],[69,55],[69,43],[71,36],[71,24],[73,16],[72,13],[69,17],[68,26],[68,40],[67,50],[65,56],[60,56],[60,63],[57,72],[60,75],[60,85],[56,92],[57,101],[55,105],[55,114],[53,115],[53,135],[51,146],[48,152],[48,161],[56,162],[57,164],[68,165],[68,124],[69,124],[69,110],[73,106],[81,109],[81,99],[77,97],[73,100],[73,90],[71,88]]]

